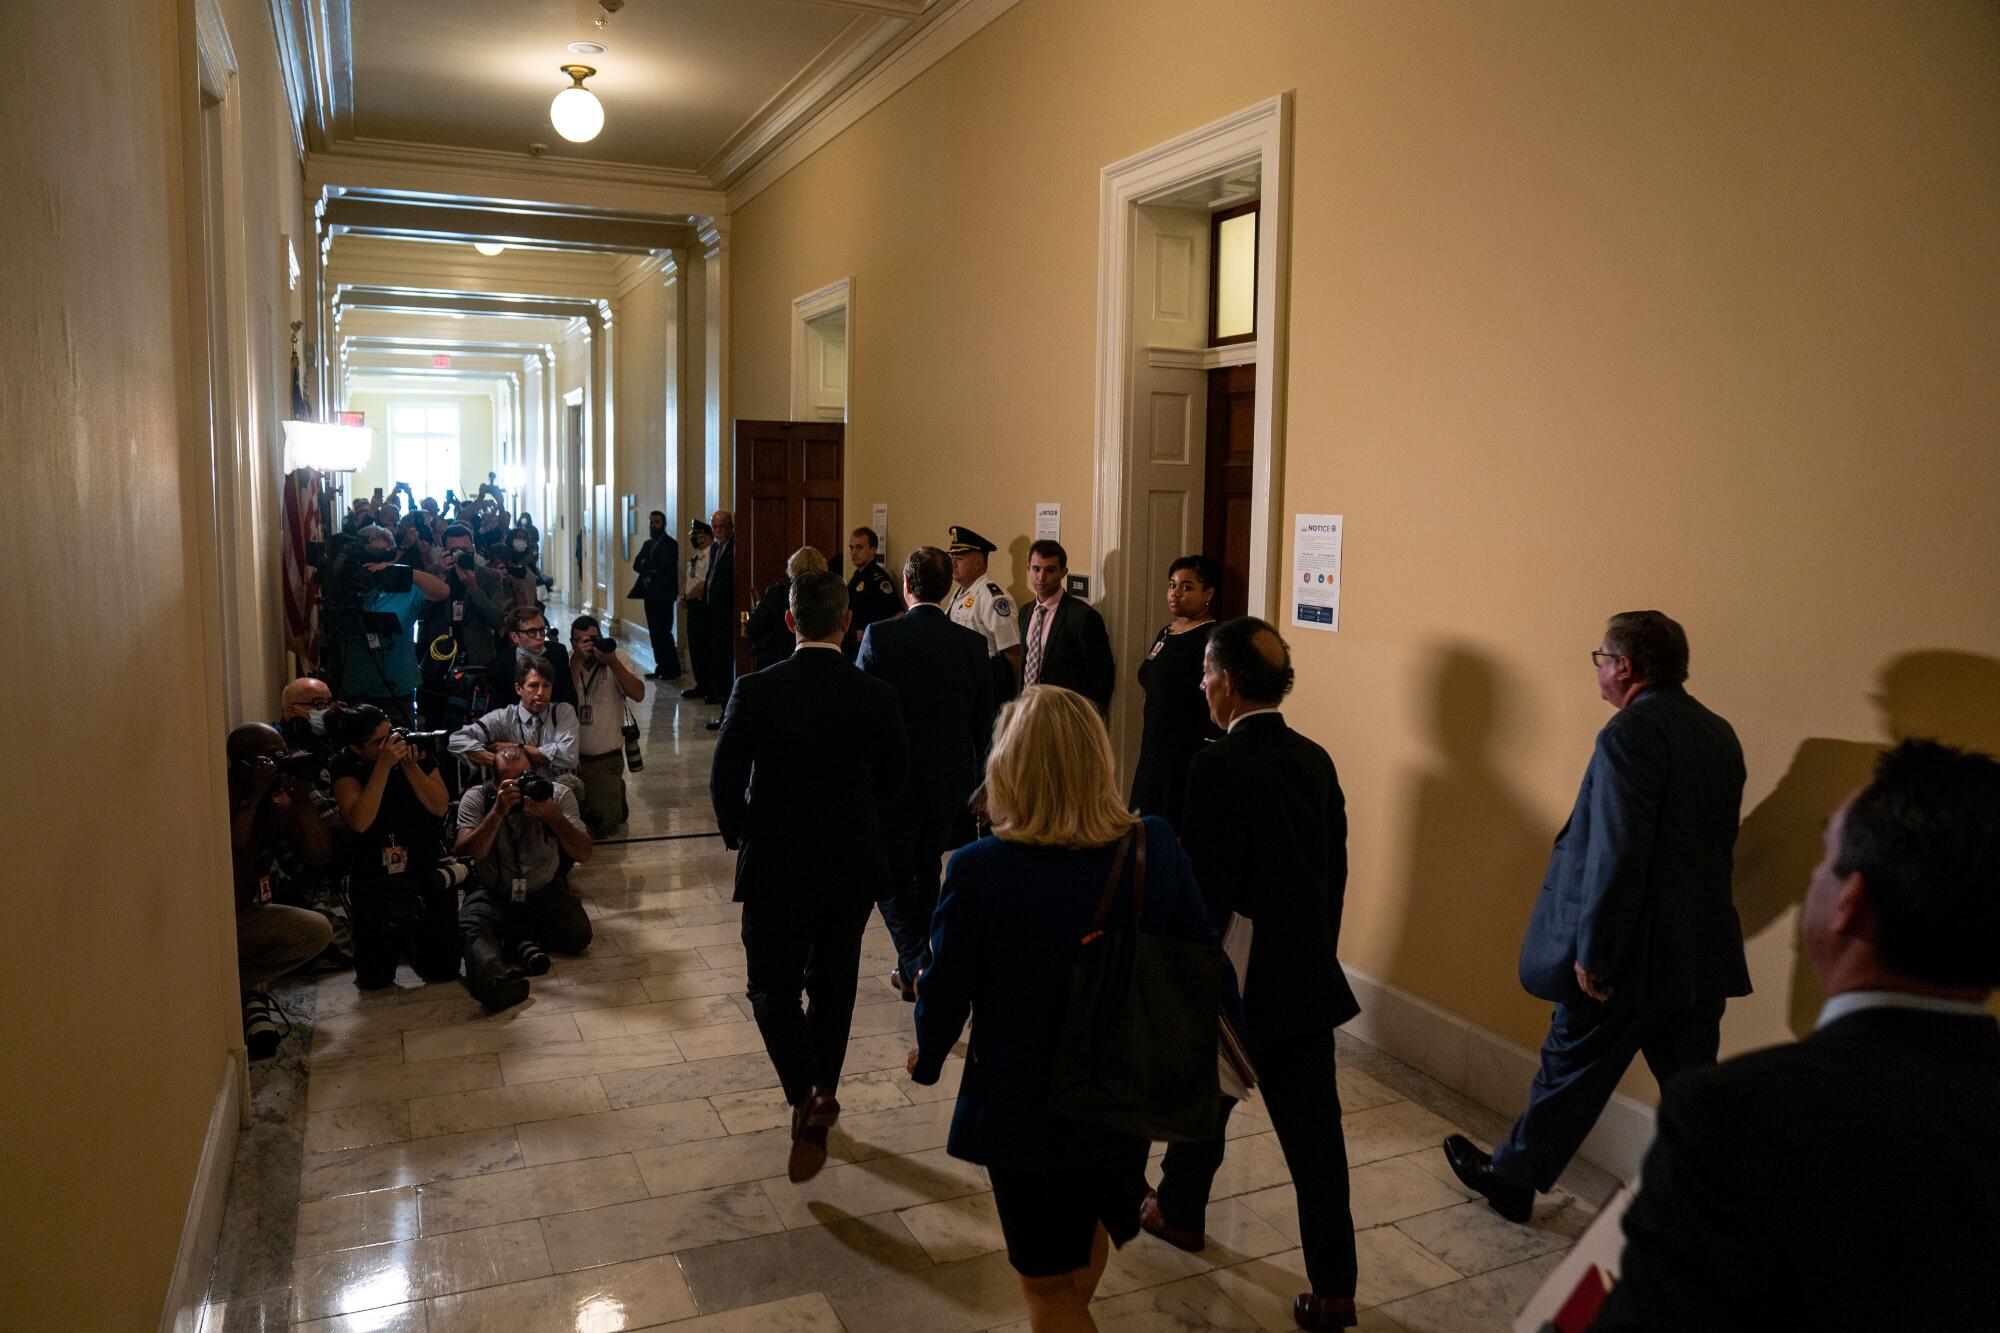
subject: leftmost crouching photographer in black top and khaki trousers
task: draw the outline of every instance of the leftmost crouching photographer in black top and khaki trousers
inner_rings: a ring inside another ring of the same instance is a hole
[[[334,939],[320,913],[272,903],[284,869],[326,865],[332,837],[312,809],[312,755],[288,755],[276,727],[248,723],[228,737],[230,871],[236,887],[236,973],[244,1001],[244,1045],[260,1061],[278,1051],[290,1023],[270,983],[318,957]],[[282,1025],[282,1027],[280,1027]]]

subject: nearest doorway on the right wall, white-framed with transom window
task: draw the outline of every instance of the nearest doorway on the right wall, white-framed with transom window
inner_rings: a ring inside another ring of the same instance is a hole
[[[1224,562],[1218,614],[1274,612],[1288,148],[1282,94],[1100,178],[1092,572],[1126,666],[1166,618],[1176,556]],[[1230,260],[1246,282],[1224,282]],[[1112,745],[1128,773],[1142,703],[1138,691],[1114,697]]]

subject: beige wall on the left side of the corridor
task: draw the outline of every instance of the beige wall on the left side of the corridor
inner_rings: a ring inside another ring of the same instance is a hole
[[[236,332],[270,468],[244,484],[264,488],[254,536],[274,548],[290,322],[280,232],[298,234],[298,172],[266,10],[242,0],[224,14],[242,62],[232,98],[248,204]],[[8,578],[22,628],[0,677],[20,717],[68,719],[60,763],[26,761],[6,815],[0,937],[16,949],[0,969],[0,1173],[26,1219],[0,1285],[10,1329],[158,1323],[202,1135],[242,1041],[184,22],[164,0],[8,6],[0,22],[0,522],[36,552]],[[76,50],[92,52],[86,66]],[[50,94],[36,70],[56,66],[74,78]],[[274,630],[274,590],[244,590],[260,630]],[[50,622],[90,642],[84,693],[32,628]],[[272,666],[250,664],[250,693],[274,697]],[[78,837],[92,829],[114,837]]]

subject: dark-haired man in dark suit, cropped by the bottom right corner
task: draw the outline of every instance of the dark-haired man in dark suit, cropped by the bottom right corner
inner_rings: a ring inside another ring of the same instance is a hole
[[[1666,1089],[1594,1329],[2000,1323],[2000,763],[1884,755],[1798,933],[1818,1027]]]

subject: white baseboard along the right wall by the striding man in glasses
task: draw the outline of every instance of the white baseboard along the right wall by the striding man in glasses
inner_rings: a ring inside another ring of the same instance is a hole
[[[1360,1015],[1346,1025],[1350,1037],[1500,1115],[1522,1113],[1540,1055],[1356,967],[1342,963],[1342,971],[1362,1005]],[[1612,1093],[1578,1157],[1618,1179],[1638,1179],[1638,1167],[1652,1147],[1652,1117],[1646,1103]]]

